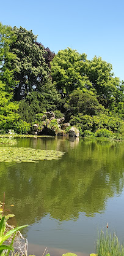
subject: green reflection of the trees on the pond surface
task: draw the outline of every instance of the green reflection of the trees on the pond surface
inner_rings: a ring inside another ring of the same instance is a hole
[[[105,212],[109,198],[122,193],[121,142],[18,138],[17,147],[60,150],[65,155],[39,163],[0,163],[0,200],[5,191],[5,208],[15,214],[13,224],[32,225],[47,214],[60,223],[77,221],[81,212],[94,217]]]

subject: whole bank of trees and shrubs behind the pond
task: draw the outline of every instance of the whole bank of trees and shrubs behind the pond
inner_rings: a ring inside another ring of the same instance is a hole
[[[53,111],[82,136],[107,129],[123,138],[123,102],[124,82],[101,57],[71,48],[55,55],[32,31],[0,23],[0,130],[30,133]]]

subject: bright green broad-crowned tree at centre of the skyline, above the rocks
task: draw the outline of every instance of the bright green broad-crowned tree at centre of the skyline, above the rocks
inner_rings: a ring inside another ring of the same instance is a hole
[[[71,48],[60,50],[54,56],[51,62],[51,76],[63,98],[78,87],[84,91],[92,88],[84,72],[86,58],[85,53],[79,54]]]

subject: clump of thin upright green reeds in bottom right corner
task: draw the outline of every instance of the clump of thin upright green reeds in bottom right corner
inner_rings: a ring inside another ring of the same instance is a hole
[[[119,242],[118,237],[112,236],[109,231],[106,234],[101,230],[97,240],[97,255],[98,256],[124,256],[124,246]]]

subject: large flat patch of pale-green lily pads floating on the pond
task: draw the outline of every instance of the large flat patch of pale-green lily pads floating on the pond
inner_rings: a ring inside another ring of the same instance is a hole
[[[41,150],[25,147],[0,147],[0,162],[38,162],[41,160],[57,160],[64,155],[56,150]]]

